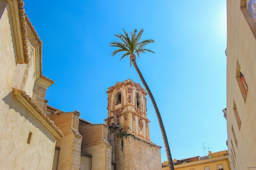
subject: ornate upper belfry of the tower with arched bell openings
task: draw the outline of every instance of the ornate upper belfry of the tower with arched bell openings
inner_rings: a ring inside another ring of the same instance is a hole
[[[106,125],[150,141],[146,91],[140,84],[127,79],[108,88]]]

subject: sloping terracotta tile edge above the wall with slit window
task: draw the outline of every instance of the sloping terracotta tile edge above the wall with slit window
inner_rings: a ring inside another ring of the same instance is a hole
[[[42,112],[42,110],[40,110],[40,108],[37,107],[37,105],[32,101],[31,97],[29,95],[26,95],[25,91],[21,91],[17,88],[13,88],[13,93],[15,96],[22,96],[25,101],[27,101],[27,103],[29,105],[32,106],[32,108],[34,108],[34,110],[41,116],[43,117],[43,119],[53,128],[53,130],[55,130],[58,135],[60,135],[61,137],[63,137],[63,133],[61,132],[61,130],[54,124],[54,121],[52,121],[49,117],[46,116],[45,113]]]

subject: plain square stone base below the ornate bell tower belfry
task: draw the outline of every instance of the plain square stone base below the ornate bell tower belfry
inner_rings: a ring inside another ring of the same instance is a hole
[[[133,135],[115,135],[117,170],[161,170],[160,147]]]

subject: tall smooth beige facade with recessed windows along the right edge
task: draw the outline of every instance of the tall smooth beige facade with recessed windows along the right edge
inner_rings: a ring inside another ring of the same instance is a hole
[[[232,170],[256,167],[255,17],[255,0],[227,0],[227,137]]]

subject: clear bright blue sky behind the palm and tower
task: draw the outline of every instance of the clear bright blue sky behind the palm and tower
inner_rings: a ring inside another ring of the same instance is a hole
[[[46,99],[63,111],[78,110],[95,124],[107,117],[107,88],[132,79],[141,83],[129,58],[109,43],[114,34],[144,29],[154,39],[137,64],[162,115],[173,159],[226,150],[226,1],[202,0],[24,0],[43,41],[43,75],[55,81]],[[153,143],[166,154],[148,98]],[[205,150],[208,153],[208,149]]]

